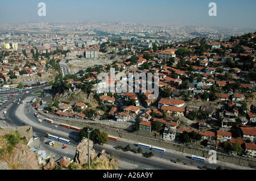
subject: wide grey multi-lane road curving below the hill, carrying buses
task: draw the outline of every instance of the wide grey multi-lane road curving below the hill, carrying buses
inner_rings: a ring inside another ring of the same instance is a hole
[[[41,90],[36,88],[33,91]],[[39,95],[32,95],[32,92],[30,91],[27,95],[26,94],[15,94],[13,99],[10,99],[7,104],[9,104],[9,107],[6,109],[3,106],[0,108],[0,111],[3,112],[4,110],[7,110],[6,117],[7,121],[5,124],[7,124],[10,127],[16,127],[24,125],[23,123],[26,123],[28,125],[32,125],[33,131],[36,133],[36,135],[39,137],[38,140],[35,140],[32,142],[32,145],[34,148],[40,148],[45,150],[47,153],[51,154],[51,157],[54,157],[56,159],[67,156],[71,159],[75,156],[76,153],[76,146],[79,144],[80,140],[77,138],[77,132],[73,131],[72,129],[67,129],[64,127],[60,127],[59,124],[55,121],[53,124],[46,123],[45,121],[42,121],[42,123],[39,123],[38,119],[44,119],[44,117],[35,117],[34,112],[36,110],[34,107],[32,107],[32,104],[26,105],[26,102],[28,100],[31,100],[32,98],[36,98]],[[13,103],[13,100],[21,99],[24,100],[23,104],[17,104]],[[14,110],[14,111],[13,111]],[[30,112],[28,112],[28,110]],[[4,123],[4,121],[2,122]],[[67,146],[66,149],[62,149],[63,144],[58,143],[57,146],[52,147],[46,144],[48,141],[46,138],[46,132],[49,132],[51,134],[54,134],[56,136],[60,136],[63,138],[67,138],[71,140],[71,144]],[[120,161],[119,169],[123,170],[133,170],[133,169],[152,169],[152,170],[181,170],[181,169],[201,169],[204,165],[207,165],[210,169],[216,169],[217,166],[222,166],[224,169],[233,169],[233,167],[224,166],[220,164],[210,164],[208,161],[201,163],[197,161],[193,161],[187,157],[184,154],[175,153],[174,151],[166,151],[166,153],[158,153],[156,151],[152,151],[154,153],[154,156],[151,158],[146,158],[144,156],[144,153],[150,150],[143,149],[142,153],[133,153],[133,151],[124,151],[124,150],[118,150],[117,146],[122,145],[122,148],[125,148],[127,144],[130,144],[131,150],[135,148],[137,150],[137,146],[134,145],[134,141],[131,140],[122,140],[121,138],[119,141],[112,141],[109,140],[108,144],[98,145],[94,144],[94,149],[96,150],[96,153],[100,152],[102,149],[106,150],[107,154],[112,155],[113,157],[117,158]],[[180,163],[176,163],[177,159],[180,159]]]

